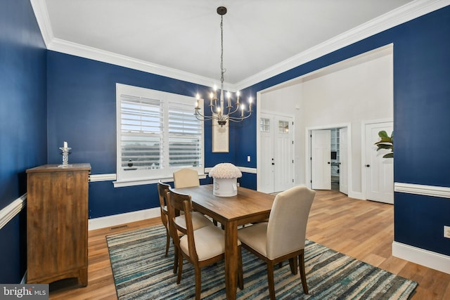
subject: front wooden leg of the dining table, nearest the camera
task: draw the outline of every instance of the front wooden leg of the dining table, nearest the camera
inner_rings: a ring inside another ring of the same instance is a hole
[[[226,299],[236,299],[236,280],[238,273],[238,223],[225,224],[225,286]]]

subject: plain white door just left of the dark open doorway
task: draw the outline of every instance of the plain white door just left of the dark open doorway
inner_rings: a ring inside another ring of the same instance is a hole
[[[331,131],[311,131],[311,188],[331,190]]]

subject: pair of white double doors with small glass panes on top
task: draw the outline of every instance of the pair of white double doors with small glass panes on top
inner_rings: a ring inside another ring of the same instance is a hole
[[[258,190],[275,193],[293,187],[293,118],[262,113],[259,135]]]

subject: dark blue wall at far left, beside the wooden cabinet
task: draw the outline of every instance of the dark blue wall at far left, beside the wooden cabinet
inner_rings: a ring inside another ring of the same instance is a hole
[[[46,163],[46,50],[27,0],[0,1],[0,209],[26,192],[25,170]],[[25,210],[0,229],[0,282],[26,268]]]

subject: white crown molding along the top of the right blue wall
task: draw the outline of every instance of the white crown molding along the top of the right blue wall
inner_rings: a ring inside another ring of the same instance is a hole
[[[328,53],[344,48],[345,46],[349,46],[350,44],[354,44],[357,41],[366,39],[367,37],[371,37],[374,34],[378,34],[397,25],[401,25],[404,22],[408,22],[449,5],[450,0],[412,1],[409,4],[400,6],[399,8],[385,13],[384,15],[380,15],[378,18],[354,27],[352,30],[348,30],[347,32],[328,39],[321,44],[311,47],[296,56],[283,60],[283,62],[273,65],[272,67],[254,74],[247,79],[239,81],[236,84],[236,90],[245,89],[248,86],[252,86],[253,84],[257,84],[258,82],[274,77],[282,72],[293,69],[294,67],[308,63],[311,60],[325,56]]]

